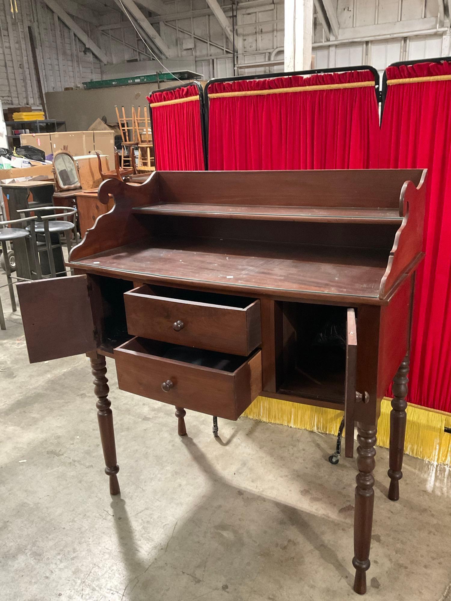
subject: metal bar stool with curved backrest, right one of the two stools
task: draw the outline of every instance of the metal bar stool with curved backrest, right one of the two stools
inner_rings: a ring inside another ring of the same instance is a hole
[[[61,213],[54,213],[55,209],[61,211]],[[42,213],[44,211],[48,213],[51,211],[52,213],[50,213],[49,215],[43,215]],[[51,234],[58,234],[59,236],[61,233],[64,232],[64,235],[66,236],[67,252],[70,253],[72,249],[72,240],[70,234],[73,230],[76,239],[76,225],[74,222],[69,221],[67,218],[71,215],[75,215],[77,210],[75,208],[54,206],[38,207],[37,209],[20,209],[20,213],[30,212],[37,213],[37,221],[31,222],[31,224],[26,228],[29,231],[29,235],[31,236],[31,248],[32,253],[34,255],[37,278],[43,278],[39,259],[39,253],[42,251],[46,251],[48,254],[50,277],[56,278],[57,275],[61,273],[66,273],[66,269],[64,269],[63,272],[57,272],[55,269],[53,249],[58,248],[59,244],[52,243]],[[61,221],[61,219],[63,219],[63,221]],[[45,248],[43,246],[38,245],[36,234],[44,234]],[[70,273],[73,275],[72,269],[70,270]]]

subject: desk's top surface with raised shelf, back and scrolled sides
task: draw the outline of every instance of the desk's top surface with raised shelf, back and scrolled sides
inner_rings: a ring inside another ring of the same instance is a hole
[[[386,302],[423,257],[426,172],[157,171],[73,249],[90,272],[337,302]],[[250,221],[253,221],[251,224]],[[269,292],[268,292],[269,293]]]

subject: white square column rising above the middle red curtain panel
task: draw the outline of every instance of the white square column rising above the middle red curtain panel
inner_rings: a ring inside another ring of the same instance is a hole
[[[313,0],[285,0],[285,71],[310,69]]]

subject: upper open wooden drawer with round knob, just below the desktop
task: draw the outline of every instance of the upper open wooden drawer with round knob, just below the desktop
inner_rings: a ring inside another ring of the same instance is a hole
[[[133,336],[242,356],[261,342],[260,301],[147,284],[124,301]]]

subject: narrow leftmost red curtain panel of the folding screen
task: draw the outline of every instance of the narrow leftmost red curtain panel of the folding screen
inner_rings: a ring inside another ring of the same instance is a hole
[[[203,171],[202,126],[199,89],[190,85],[154,92],[147,100],[158,105],[168,100],[196,98],[187,102],[152,106],[155,167],[159,171]]]

